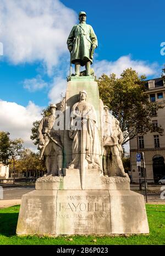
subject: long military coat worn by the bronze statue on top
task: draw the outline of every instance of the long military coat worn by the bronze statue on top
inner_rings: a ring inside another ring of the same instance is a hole
[[[75,64],[76,61],[79,61],[81,66],[84,66],[87,61],[92,64],[94,53],[91,52],[91,45],[95,44],[97,46],[98,43],[94,29],[90,25],[86,23],[74,25],[67,44],[68,48],[72,47],[72,64]]]

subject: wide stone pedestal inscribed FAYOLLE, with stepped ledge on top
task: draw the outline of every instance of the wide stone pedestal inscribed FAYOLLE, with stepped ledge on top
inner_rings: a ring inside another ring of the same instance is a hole
[[[41,177],[22,197],[17,234],[147,234],[144,196],[129,190],[128,177],[88,170],[85,190],[78,169]]]

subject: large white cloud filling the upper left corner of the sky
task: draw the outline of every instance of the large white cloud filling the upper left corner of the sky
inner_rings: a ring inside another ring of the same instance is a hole
[[[76,13],[59,0],[1,0],[4,56],[16,65],[43,61],[51,75],[68,51],[67,36],[76,19]]]

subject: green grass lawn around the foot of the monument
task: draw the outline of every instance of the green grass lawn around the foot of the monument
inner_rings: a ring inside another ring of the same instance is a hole
[[[16,236],[19,206],[4,208],[0,209],[0,244],[165,244],[165,205],[146,205],[146,210],[150,226],[149,236],[60,236],[48,238]],[[73,241],[70,241],[69,238],[72,238]],[[96,239],[96,242],[93,241],[94,239]]]

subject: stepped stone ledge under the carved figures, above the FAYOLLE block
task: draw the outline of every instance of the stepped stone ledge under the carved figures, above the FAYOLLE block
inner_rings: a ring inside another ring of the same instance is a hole
[[[86,170],[84,188],[79,169],[63,169],[64,177],[40,177],[36,190],[129,190],[129,177],[105,177],[98,169]]]

